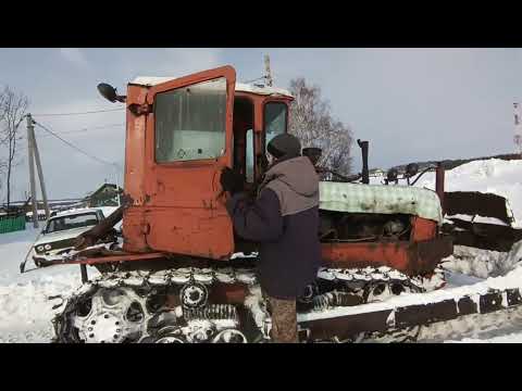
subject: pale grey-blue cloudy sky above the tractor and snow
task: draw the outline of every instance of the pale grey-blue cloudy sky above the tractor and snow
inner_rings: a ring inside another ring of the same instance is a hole
[[[514,152],[512,103],[522,100],[522,49],[0,49],[0,87],[24,92],[38,123],[116,166],[101,164],[36,127],[49,199],[80,198],[105,180],[123,181],[124,111],[96,86],[125,93],[136,76],[182,76],[233,65],[239,81],[263,74],[270,54],[274,85],[304,77],[321,87],[332,114],[355,138],[370,141],[370,167],[412,161]],[[28,192],[26,140],[12,182],[14,200]],[[0,156],[1,156],[0,151]],[[353,171],[361,167],[351,148]],[[5,199],[1,179],[0,201]]]

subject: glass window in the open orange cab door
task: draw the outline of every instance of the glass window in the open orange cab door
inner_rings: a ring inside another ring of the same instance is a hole
[[[216,159],[225,152],[226,79],[198,83],[154,99],[158,163]]]

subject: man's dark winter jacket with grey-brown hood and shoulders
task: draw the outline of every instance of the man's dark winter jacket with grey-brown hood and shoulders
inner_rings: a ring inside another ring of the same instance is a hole
[[[256,200],[235,194],[226,207],[236,232],[259,242],[261,288],[277,299],[300,297],[321,264],[319,178],[310,160],[276,163]]]

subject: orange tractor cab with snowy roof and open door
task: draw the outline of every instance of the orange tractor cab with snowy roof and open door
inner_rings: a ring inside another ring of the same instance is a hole
[[[124,249],[227,260],[234,239],[220,185],[223,167],[256,191],[265,146],[287,131],[291,94],[236,83],[232,66],[128,84]]]

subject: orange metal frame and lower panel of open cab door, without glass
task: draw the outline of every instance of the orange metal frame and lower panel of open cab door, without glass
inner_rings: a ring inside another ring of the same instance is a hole
[[[153,251],[220,260],[234,252],[232,220],[224,205],[221,169],[232,166],[233,106],[236,74],[224,66],[151,87],[156,94],[219,77],[226,78],[225,152],[217,159],[156,162],[154,113],[147,116],[145,139],[145,232]],[[135,232],[135,231],[133,231]]]

